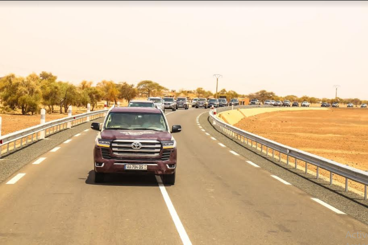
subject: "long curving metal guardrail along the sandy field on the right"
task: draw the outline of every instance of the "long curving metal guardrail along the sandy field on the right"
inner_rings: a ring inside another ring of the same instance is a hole
[[[238,108],[254,108],[254,107],[272,107],[272,106],[234,106],[234,109]],[[219,108],[217,111],[226,111],[230,110],[231,107],[223,107]],[[282,155],[286,156],[286,165],[290,164],[290,158],[294,159],[294,169],[297,169],[297,163],[304,162],[305,165],[305,174],[308,173],[308,164],[314,165],[317,167],[317,178],[319,178],[320,168],[323,170],[327,170],[330,172],[330,184],[332,184],[332,175],[340,175],[345,177],[345,191],[348,191],[348,180],[353,180],[355,182],[364,184],[364,200],[367,200],[367,185],[368,185],[368,173],[359,169],[355,169],[341,163],[334,162],[332,160],[323,158],[321,156],[314,155],[309,152],[305,152],[281,143],[278,143],[273,140],[266,139],[264,137],[246,132],[242,129],[234,127],[228,123],[221,121],[216,115],[213,115],[213,111],[209,111],[209,118],[212,121],[212,125],[214,127],[218,127],[225,134],[235,138],[236,140],[240,140],[245,143],[247,146],[254,147],[255,149],[260,150],[261,153],[265,151],[267,156],[271,156],[275,158],[275,153],[278,153],[278,159],[282,161]],[[272,150],[272,152],[270,152]]]

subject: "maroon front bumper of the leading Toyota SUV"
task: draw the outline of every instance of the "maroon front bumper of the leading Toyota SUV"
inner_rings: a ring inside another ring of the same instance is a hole
[[[111,151],[111,150],[110,150]],[[161,155],[161,154],[160,154]],[[112,159],[102,157],[101,147],[94,147],[94,170],[97,173],[151,173],[155,175],[170,175],[175,172],[177,150],[172,149],[168,160],[148,160],[147,158],[120,158],[112,154],[109,155]],[[125,170],[125,164],[147,165],[147,170]]]

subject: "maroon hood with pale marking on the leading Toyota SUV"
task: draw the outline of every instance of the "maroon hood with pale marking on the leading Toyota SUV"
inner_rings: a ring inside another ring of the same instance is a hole
[[[169,132],[154,130],[114,130],[105,129],[100,132],[101,139],[106,140],[171,140]]]

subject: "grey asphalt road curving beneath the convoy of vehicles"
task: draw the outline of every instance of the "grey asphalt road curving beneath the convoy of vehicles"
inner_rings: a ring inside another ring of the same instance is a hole
[[[328,209],[247,163],[222,138],[212,139],[206,114],[197,122],[206,111],[166,111],[169,124],[183,128],[173,135],[178,147],[173,186],[159,186],[160,179],[146,175],[111,175],[95,184],[92,130],[81,128],[81,135],[60,142],[56,151],[39,154],[0,184],[0,244],[368,243],[363,236],[347,237],[367,234],[366,223]],[[260,164],[256,159],[253,164]],[[7,184],[11,180],[14,184]]]

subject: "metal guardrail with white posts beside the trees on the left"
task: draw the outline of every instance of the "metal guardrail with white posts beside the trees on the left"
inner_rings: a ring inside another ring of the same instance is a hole
[[[103,109],[68,116],[1,136],[0,157],[3,153],[9,153],[10,151],[17,150],[17,148],[22,148],[26,144],[33,143],[37,140],[42,140],[45,136],[72,128],[81,123],[88,122],[89,120],[94,120],[96,118],[105,116],[105,113],[108,110],[109,109]],[[10,145],[11,143],[13,144]]]

